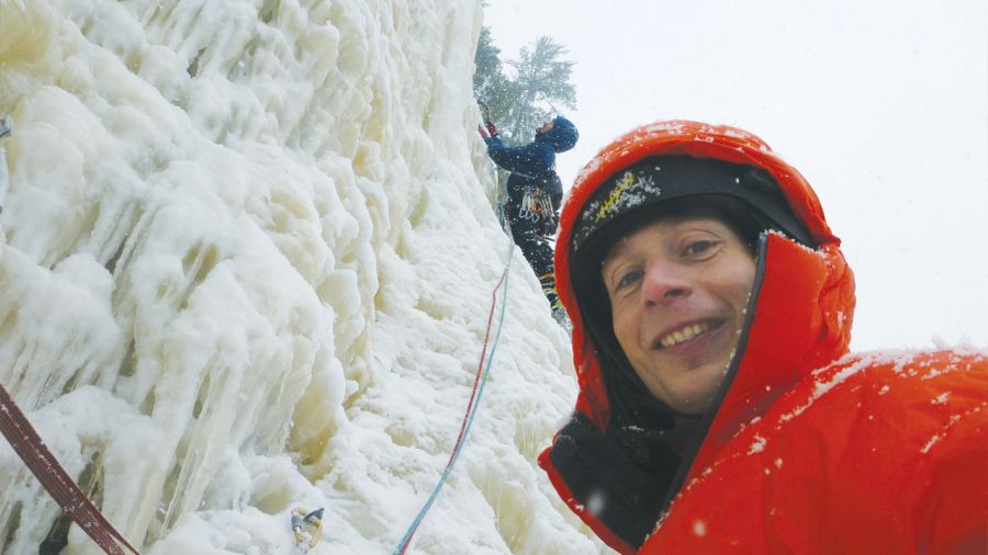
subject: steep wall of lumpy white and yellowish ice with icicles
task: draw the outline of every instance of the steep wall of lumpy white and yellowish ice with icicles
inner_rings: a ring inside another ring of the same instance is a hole
[[[471,0],[0,0],[0,382],[145,553],[391,553],[509,242]],[[480,178],[479,178],[480,175]],[[594,553],[535,467],[574,384],[517,253],[413,553]],[[2,553],[97,553],[0,442]]]

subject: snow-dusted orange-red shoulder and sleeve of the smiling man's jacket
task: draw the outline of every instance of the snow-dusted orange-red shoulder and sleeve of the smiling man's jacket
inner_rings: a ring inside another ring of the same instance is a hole
[[[641,553],[988,553],[988,360],[849,356],[694,463]]]

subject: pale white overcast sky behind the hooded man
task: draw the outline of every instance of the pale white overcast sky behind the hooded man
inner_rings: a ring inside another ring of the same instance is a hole
[[[857,279],[852,348],[988,348],[988,2],[491,0],[503,59],[576,63],[563,183],[629,128],[755,133],[813,184]]]

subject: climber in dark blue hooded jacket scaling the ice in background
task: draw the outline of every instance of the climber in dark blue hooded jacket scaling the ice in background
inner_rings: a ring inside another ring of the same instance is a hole
[[[559,225],[562,182],[555,173],[555,155],[576,145],[580,134],[573,122],[557,116],[536,131],[535,140],[518,147],[507,147],[497,136],[493,123],[481,127],[487,144],[487,155],[498,167],[510,172],[507,180],[505,216],[512,226],[512,237],[531,269],[553,310],[562,310],[555,294],[552,271],[551,238]]]

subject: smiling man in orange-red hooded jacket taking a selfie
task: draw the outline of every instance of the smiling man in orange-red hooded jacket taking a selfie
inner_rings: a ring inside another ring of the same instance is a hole
[[[840,245],[741,129],[656,123],[584,168],[555,252],[580,393],[539,464],[604,542],[988,552],[988,355],[849,353]]]

